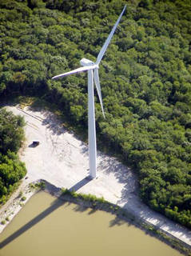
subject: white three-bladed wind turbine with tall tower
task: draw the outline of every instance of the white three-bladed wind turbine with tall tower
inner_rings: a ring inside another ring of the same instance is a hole
[[[91,62],[87,58],[82,58],[82,60],[80,61],[80,64],[82,65],[82,67],[76,70],[72,70],[70,72],[66,72],[64,74],[58,74],[54,76],[54,78],[52,78],[52,79],[62,78],[69,74],[75,74],[78,72],[88,70],[88,143],[89,143],[89,164],[90,164],[91,178],[96,178],[96,169],[97,169],[97,165],[96,165],[97,146],[96,146],[95,111],[94,111],[94,82],[95,82],[95,85],[97,88],[97,94],[101,103],[101,110],[105,118],[102,97],[101,97],[101,87],[99,82],[98,68],[99,68],[99,63],[101,62],[101,58],[103,58],[103,55],[105,54],[105,50],[107,49],[109,42],[113,37],[113,34],[117,28],[117,25],[120,22],[121,16],[125,11],[125,8],[126,6],[123,8],[119,18],[117,19],[117,22],[113,26],[113,29],[111,30],[109,37],[105,41],[105,44],[102,46],[101,51],[97,56],[97,61],[95,63]]]

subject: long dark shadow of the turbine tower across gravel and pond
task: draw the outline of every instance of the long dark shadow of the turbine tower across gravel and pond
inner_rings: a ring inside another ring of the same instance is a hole
[[[91,179],[89,177],[83,178],[82,181],[76,183],[74,186],[70,187],[71,190],[79,190],[82,186],[85,186],[88,182],[90,182]],[[50,183],[46,182],[46,189],[50,192],[50,194],[56,194],[60,189],[57,187],[51,185]],[[52,192],[54,191],[54,193]],[[60,195],[54,202],[51,204],[50,207],[48,207],[46,210],[43,210],[42,213],[38,214],[36,217],[34,217],[30,222],[27,222],[24,226],[22,226],[19,230],[15,231],[13,234],[11,234],[8,238],[4,239],[2,242],[0,242],[0,249],[7,246],[10,242],[13,242],[16,238],[18,238],[20,235],[25,233],[27,230],[30,230],[34,225],[38,224],[38,222],[41,222],[42,219],[46,218],[48,215],[52,214],[54,210],[57,210],[60,206],[63,206],[66,204],[66,201],[62,200],[62,195]]]

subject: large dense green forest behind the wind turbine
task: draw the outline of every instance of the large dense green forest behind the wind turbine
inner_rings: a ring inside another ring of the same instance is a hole
[[[0,0],[0,97],[38,95],[87,129],[86,74],[50,78],[95,61],[125,4],[100,66],[98,138],[150,207],[191,227],[190,0]]]

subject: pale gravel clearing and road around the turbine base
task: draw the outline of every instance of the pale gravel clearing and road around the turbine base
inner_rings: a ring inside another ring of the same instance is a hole
[[[141,202],[137,195],[137,179],[129,168],[115,158],[98,153],[98,178],[87,179],[89,163],[86,144],[65,130],[54,114],[45,110],[22,110],[15,106],[6,108],[26,120],[26,147],[21,154],[28,171],[26,182],[45,179],[60,188],[103,196],[105,200],[125,207],[135,216],[191,246],[190,230],[169,221]],[[40,145],[33,147],[31,143],[34,140],[39,140]]]

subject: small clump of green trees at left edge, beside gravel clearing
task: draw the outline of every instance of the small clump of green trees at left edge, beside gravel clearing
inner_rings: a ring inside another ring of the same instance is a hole
[[[26,167],[18,159],[25,122],[10,111],[0,109],[0,204],[6,202],[17,182],[26,174]]]

